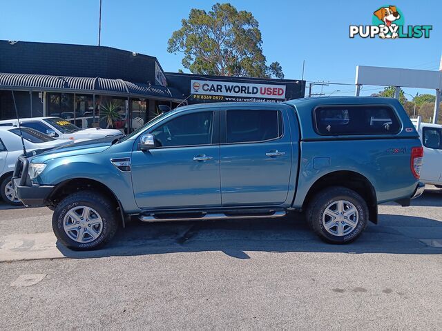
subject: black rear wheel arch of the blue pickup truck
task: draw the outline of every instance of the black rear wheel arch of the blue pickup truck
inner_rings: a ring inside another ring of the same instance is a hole
[[[332,186],[343,186],[357,192],[365,201],[367,201],[369,221],[378,223],[378,203],[376,190],[372,183],[363,174],[349,170],[339,170],[329,172],[315,181],[302,203],[302,209],[307,208],[307,204],[311,199],[325,188]]]

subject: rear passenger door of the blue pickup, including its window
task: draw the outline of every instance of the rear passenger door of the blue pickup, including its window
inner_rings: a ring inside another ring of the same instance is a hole
[[[232,107],[221,112],[220,123],[222,205],[284,203],[292,161],[287,113]]]

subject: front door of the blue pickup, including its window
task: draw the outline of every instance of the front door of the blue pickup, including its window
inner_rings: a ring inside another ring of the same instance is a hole
[[[177,114],[149,130],[155,136],[154,149],[142,152],[135,146],[132,182],[140,208],[221,205],[218,114]]]

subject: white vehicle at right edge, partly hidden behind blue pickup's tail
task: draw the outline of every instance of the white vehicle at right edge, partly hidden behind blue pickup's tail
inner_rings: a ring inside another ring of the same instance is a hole
[[[421,181],[442,188],[442,125],[412,119],[423,145]]]

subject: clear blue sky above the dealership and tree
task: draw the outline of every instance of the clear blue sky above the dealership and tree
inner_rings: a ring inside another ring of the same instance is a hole
[[[223,1],[220,1],[223,2]],[[385,1],[229,1],[252,12],[262,32],[268,63],[278,61],[286,79],[354,84],[356,66],[439,70],[442,1],[394,1],[405,26],[432,25],[430,38],[382,40],[349,38],[350,25],[369,25]],[[164,71],[185,70],[182,54],[167,52],[167,40],[191,8],[209,11],[215,1],[102,0],[102,46],[157,57]],[[0,0],[0,39],[97,45],[99,0]],[[0,54],[1,61],[1,54]],[[364,86],[361,95],[382,90]],[[404,88],[416,92],[432,90]],[[352,95],[354,86],[315,86],[313,92]],[[407,99],[412,99],[406,95]]]

